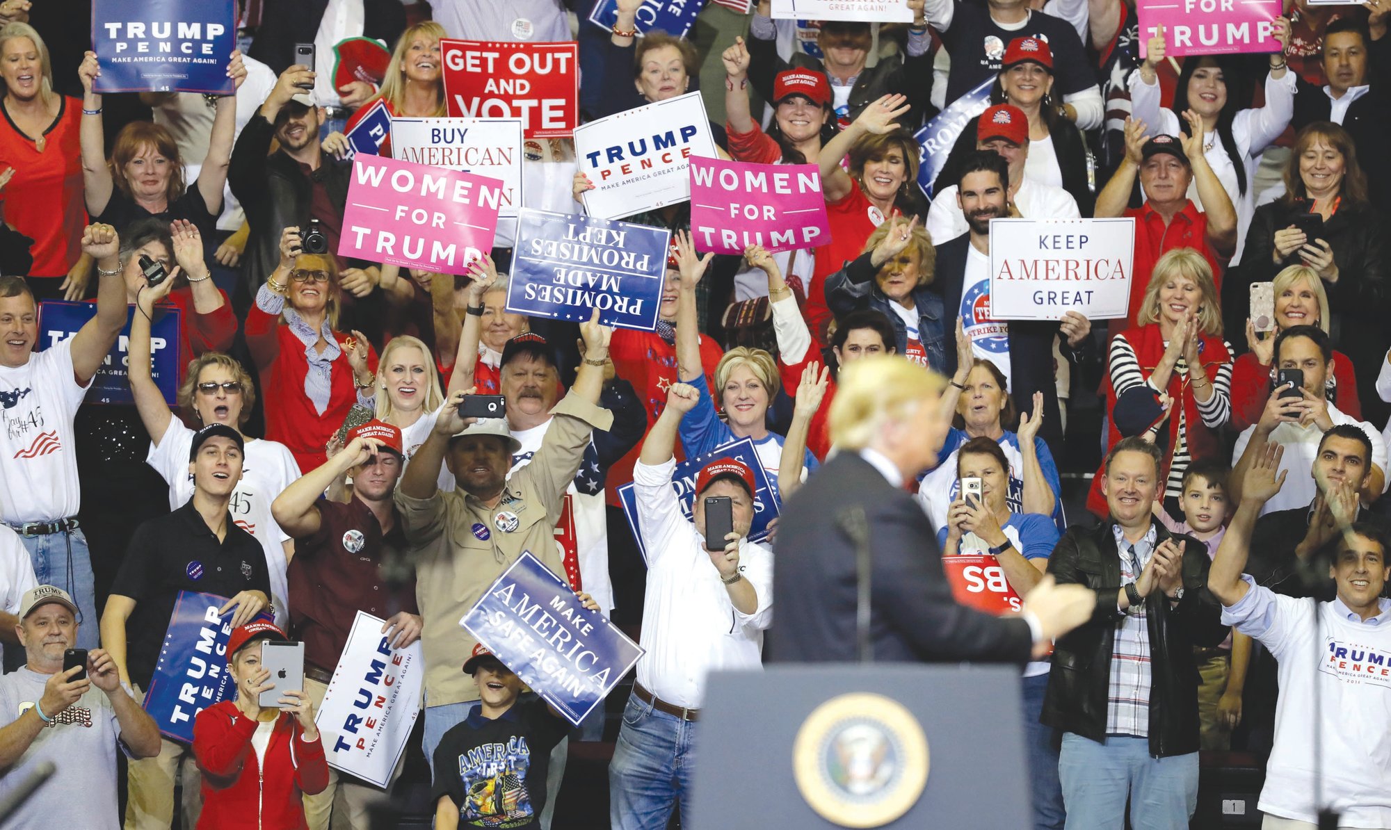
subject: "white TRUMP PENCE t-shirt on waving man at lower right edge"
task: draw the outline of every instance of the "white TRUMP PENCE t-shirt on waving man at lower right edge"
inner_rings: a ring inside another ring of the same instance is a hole
[[[1340,827],[1391,827],[1391,603],[1383,599],[1381,613],[1363,621],[1340,599],[1316,606],[1244,578],[1251,589],[1223,609],[1221,621],[1259,640],[1280,665],[1276,742],[1257,806],[1296,822],[1317,820],[1317,683],[1324,801],[1341,813]]]

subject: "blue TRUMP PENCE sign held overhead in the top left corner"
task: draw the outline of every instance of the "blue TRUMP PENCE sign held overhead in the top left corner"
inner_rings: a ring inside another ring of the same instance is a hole
[[[96,0],[96,92],[232,95],[235,0]]]

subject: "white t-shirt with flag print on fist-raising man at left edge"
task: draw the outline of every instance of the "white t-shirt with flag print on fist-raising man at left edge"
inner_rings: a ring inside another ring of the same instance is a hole
[[[72,377],[72,338],[24,366],[0,366],[0,520],[78,514],[82,491],[72,417],[90,386],[90,380],[79,386]]]

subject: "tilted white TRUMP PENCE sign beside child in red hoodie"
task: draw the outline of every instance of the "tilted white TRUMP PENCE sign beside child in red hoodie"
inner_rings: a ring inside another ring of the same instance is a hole
[[[420,715],[426,677],[420,641],[391,648],[384,624],[357,612],[314,716],[328,766],[383,788],[391,786],[391,772]]]

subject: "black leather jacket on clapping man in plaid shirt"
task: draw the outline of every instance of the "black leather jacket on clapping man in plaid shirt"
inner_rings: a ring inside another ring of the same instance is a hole
[[[1075,583],[1096,591],[1096,610],[1086,624],[1060,638],[1053,649],[1043,716],[1047,726],[1093,741],[1106,738],[1110,699],[1111,646],[1116,608],[1121,589],[1120,555],[1114,521],[1093,528],[1072,527],[1047,562],[1059,583]],[[1146,605],[1150,645],[1149,752],[1155,758],[1198,751],[1198,666],[1193,646],[1214,646],[1227,635],[1221,605],[1207,591],[1206,546],[1187,535],[1174,535],[1156,523],[1155,544],[1173,537],[1184,544],[1184,598],[1173,603],[1153,594]],[[1159,601],[1156,601],[1159,599]]]

